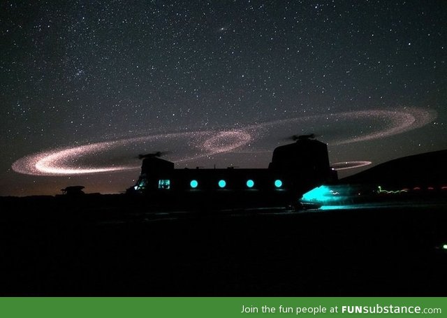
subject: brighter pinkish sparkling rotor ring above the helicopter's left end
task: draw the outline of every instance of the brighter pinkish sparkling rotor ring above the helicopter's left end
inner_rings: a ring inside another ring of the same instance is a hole
[[[229,140],[228,140],[229,139]],[[29,175],[79,175],[86,173],[108,173],[114,171],[125,171],[140,167],[140,162],[134,160],[133,164],[110,164],[105,166],[80,164],[79,160],[92,155],[103,155],[106,152],[119,151],[128,145],[142,145],[145,143],[166,143],[168,141],[177,143],[176,147],[187,146],[189,152],[174,154],[173,161],[182,162],[200,157],[230,152],[251,140],[251,135],[240,130],[228,131],[196,131],[189,133],[167,133],[153,136],[142,136],[126,138],[101,143],[91,143],[78,147],[39,152],[23,157],[13,164],[13,170],[18,173]],[[128,150],[133,151],[133,150]]]

